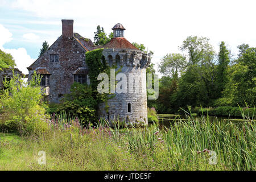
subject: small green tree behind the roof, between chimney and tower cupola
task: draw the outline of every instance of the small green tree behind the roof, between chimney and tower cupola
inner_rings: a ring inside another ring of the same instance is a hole
[[[94,32],[94,44],[97,46],[104,46],[114,37],[113,32],[109,34],[109,37],[106,35],[104,28],[97,26],[97,31]]]

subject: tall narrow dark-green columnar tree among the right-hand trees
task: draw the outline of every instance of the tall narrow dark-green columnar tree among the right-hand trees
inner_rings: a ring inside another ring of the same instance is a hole
[[[221,96],[221,92],[224,90],[226,83],[228,82],[228,65],[230,63],[230,51],[226,48],[225,43],[221,42],[220,52],[218,53],[218,65],[217,65],[217,93],[218,97]]]

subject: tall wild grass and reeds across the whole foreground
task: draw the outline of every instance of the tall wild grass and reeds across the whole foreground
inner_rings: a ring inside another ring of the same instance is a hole
[[[256,127],[246,120],[238,126],[190,117],[169,129],[119,129],[58,119],[41,136],[0,133],[0,170],[255,170]],[[38,164],[39,151],[46,165]],[[209,164],[210,151],[217,164]]]

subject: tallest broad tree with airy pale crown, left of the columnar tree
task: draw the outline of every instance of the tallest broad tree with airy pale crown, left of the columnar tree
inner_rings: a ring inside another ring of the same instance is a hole
[[[200,86],[196,90],[201,90],[205,94],[202,98],[205,100],[202,102],[204,104],[209,104],[214,100],[216,96],[216,64],[214,60],[215,52],[212,45],[209,43],[209,39],[197,36],[189,36],[184,40],[182,46],[180,47],[181,51],[187,52],[187,57],[189,60],[188,68],[186,75],[189,75],[187,72],[197,73],[194,76],[196,80],[191,80],[189,77],[185,77],[183,81],[192,81],[188,82],[193,86]],[[196,83],[197,82],[197,83]],[[196,92],[195,92],[196,93]],[[196,102],[193,102],[196,103]]]

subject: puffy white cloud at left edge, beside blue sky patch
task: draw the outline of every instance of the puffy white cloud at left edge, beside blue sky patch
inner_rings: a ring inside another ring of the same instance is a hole
[[[5,49],[3,45],[7,42],[11,41],[11,32],[0,24],[0,49],[3,52],[10,53],[15,60],[16,68],[22,71],[24,74],[28,73],[27,67],[30,66],[34,59],[27,54],[27,50],[25,48],[18,48],[18,49]]]

